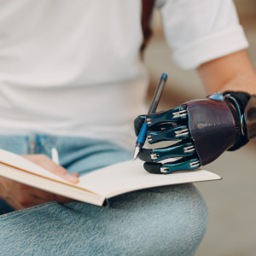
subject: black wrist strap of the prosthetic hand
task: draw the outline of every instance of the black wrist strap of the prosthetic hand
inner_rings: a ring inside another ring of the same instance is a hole
[[[242,91],[225,91],[224,97],[225,99],[227,99],[226,102],[230,107],[236,122],[238,122],[236,144],[233,147],[228,149],[228,151],[234,151],[238,148],[241,148],[249,141],[247,139],[246,127],[244,127],[245,125],[244,112],[245,112],[245,108],[247,107],[247,102],[250,100],[251,96],[246,92],[242,92]],[[233,105],[233,107],[236,110],[230,106],[229,102]]]

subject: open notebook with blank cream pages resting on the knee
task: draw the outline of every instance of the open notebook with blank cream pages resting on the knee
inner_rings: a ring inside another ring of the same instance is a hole
[[[73,184],[22,156],[3,149],[0,149],[0,176],[96,206],[102,206],[110,197],[137,189],[221,178],[201,169],[167,175],[151,174],[143,169],[141,160],[134,163],[129,160],[85,174],[79,177],[79,183]]]

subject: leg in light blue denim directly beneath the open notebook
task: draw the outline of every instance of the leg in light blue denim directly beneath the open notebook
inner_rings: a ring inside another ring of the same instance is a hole
[[[119,195],[109,207],[56,202],[0,218],[2,255],[194,255],[207,207],[194,185]]]

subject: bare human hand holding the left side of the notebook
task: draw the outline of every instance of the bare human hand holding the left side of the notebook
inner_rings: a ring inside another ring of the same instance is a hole
[[[78,173],[69,174],[66,169],[55,164],[52,160],[49,159],[48,156],[44,154],[26,154],[22,156],[71,183],[79,182]],[[51,194],[40,189],[35,189],[5,177],[0,177],[0,197],[15,210],[20,210],[26,207],[33,207],[48,201],[72,201],[71,199],[64,196]]]

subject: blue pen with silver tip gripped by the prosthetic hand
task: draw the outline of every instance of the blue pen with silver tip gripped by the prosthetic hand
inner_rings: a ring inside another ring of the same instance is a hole
[[[167,78],[168,78],[168,75],[166,73],[162,73],[162,76],[160,78],[160,83],[158,84],[157,88],[154,91],[154,96],[150,104],[150,107],[148,109],[148,114],[155,113],[158,103],[160,102],[160,96],[162,95],[162,92],[165,88]],[[137,159],[137,156],[140,153],[141,148],[143,148],[143,145],[147,137],[147,131],[148,131],[148,124],[147,124],[147,119],[145,119],[143,126],[141,128],[141,131],[139,132],[137,137],[137,142],[135,145],[133,160],[132,160],[133,162]]]

